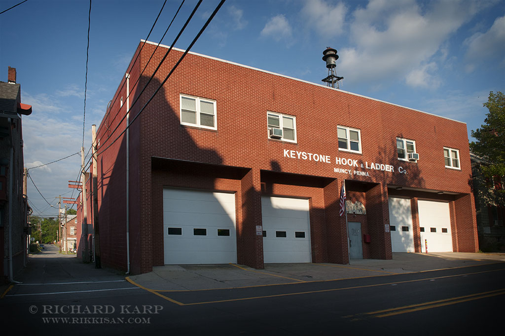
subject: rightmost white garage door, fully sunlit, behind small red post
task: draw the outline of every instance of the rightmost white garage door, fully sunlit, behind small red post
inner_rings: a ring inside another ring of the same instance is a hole
[[[431,200],[419,200],[419,226],[421,229],[421,249],[426,252],[452,252],[449,204]]]

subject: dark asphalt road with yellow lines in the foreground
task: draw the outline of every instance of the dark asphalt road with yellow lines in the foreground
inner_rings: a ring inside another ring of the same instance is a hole
[[[9,334],[447,335],[503,332],[505,263],[242,289],[149,292],[56,248],[3,299]],[[4,326],[5,328],[5,326]]]

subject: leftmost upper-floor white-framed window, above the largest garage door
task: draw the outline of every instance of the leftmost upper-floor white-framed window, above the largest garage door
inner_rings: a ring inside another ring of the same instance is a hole
[[[181,124],[217,129],[216,101],[180,95]]]

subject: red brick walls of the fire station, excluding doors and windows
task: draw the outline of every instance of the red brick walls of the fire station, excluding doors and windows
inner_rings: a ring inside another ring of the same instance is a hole
[[[167,49],[160,47],[153,61],[147,64],[154,50],[154,45],[145,44],[140,51],[139,45],[135,55],[140,57],[134,57],[129,66],[133,92],[130,101],[139,97],[130,112],[130,120],[139,113],[181,55],[180,51],[172,50],[159,73],[147,85]],[[195,71],[194,64],[201,63],[205,66]],[[140,75],[144,66],[146,71]],[[126,127],[122,120],[126,109],[119,104],[119,98],[125,100],[127,95],[123,83],[124,79],[98,128],[97,137],[102,141],[102,148],[104,144],[109,146]],[[144,87],[145,91],[140,94]],[[215,100],[217,130],[181,125],[180,94]],[[296,117],[296,143],[268,138],[267,111]],[[349,195],[366,205],[367,215],[357,215],[353,219],[361,222],[363,233],[372,238],[371,243],[364,243],[364,257],[391,258],[390,235],[385,232],[385,225],[389,225],[388,194],[398,192],[388,186],[450,192],[451,195],[442,196],[453,203],[456,210],[451,217],[451,224],[455,225],[453,241],[457,240],[455,250],[476,249],[476,230],[472,229],[475,219],[471,216],[475,210],[471,196],[467,197],[470,156],[464,123],[195,54],[186,56],[141,113],[130,127],[128,143],[132,273],[148,272],[153,265],[163,262],[163,231],[160,231],[163,227],[160,216],[163,186],[231,188],[228,190],[235,192],[237,203],[238,262],[253,267],[263,267],[263,239],[256,236],[256,226],[262,224],[262,194],[309,198],[313,261],[346,263],[345,217],[338,216],[343,179],[352,181]],[[361,130],[362,153],[338,150],[337,124]],[[416,141],[418,162],[397,159],[396,137]],[[461,170],[445,168],[443,147],[460,151]],[[285,150],[329,156],[331,162],[302,160],[296,158],[296,154],[292,158],[290,154],[285,155]],[[104,223],[100,230],[102,262],[125,268],[125,136],[105,153],[99,158],[98,167],[99,216],[100,223]],[[334,171],[334,168],[349,168],[337,164],[337,157],[353,163],[350,174]],[[201,169],[187,172],[161,169],[153,167],[154,158],[217,168],[214,175],[205,174]],[[393,171],[367,169],[371,163],[390,165]],[[239,176],[223,177],[227,167],[240,167],[237,168]],[[368,175],[358,175],[354,171]],[[295,177],[288,178],[288,175]],[[319,180],[311,180],[311,176]],[[303,182],[307,180],[310,182]],[[420,193],[424,195],[420,191],[407,192],[416,205],[415,198]],[[434,192],[426,192],[426,195],[430,199],[439,198]],[[417,209],[415,205],[412,208],[413,212]],[[469,217],[465,219],[465,216]],[[415,230],[419,230],[417,214],[413,220]],[[415,244],[416,251],[420,250],[419,243]]]

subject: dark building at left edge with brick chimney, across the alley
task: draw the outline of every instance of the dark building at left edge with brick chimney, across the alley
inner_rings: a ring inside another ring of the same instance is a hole
[[[28,201],[23,195],[21,116],[32,112],[21,103],[16,69],[0,82],[0,281],[12,281],[27,262]]]

